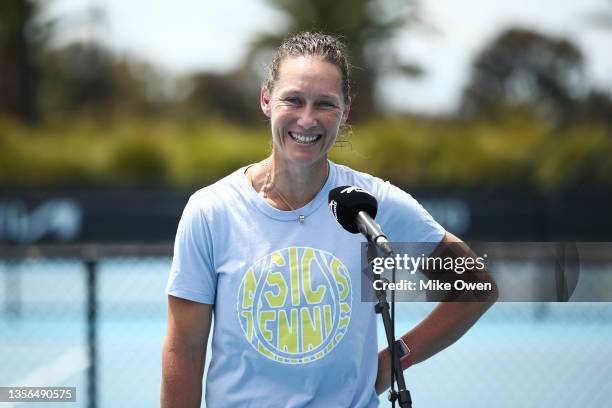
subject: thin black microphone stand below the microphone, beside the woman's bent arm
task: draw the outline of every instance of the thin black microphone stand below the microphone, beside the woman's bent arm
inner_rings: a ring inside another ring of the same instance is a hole
[[[368,264],[372,264],[374,258],[377,255],[377,252],[378,251],[376,245],[369,241],[367,249]],[[389,256],[392,256],[392,254],[393,252],[391,252]],[[393,280],[393,282],[395,282],[395,268],[393,268],[391,279]],[[387,280],[383,279],[383,281]],[[380,314],[383,319],[385,334],[387,336],[387,343],[389,344],[389,350],[391,352],[391,389],[389,390],[389,401],[391,401],[391,405],[394,408],[396,400],[399,400],[400,407],[412,408],[412,398],[410,397],[410,391],[406,389],[404,371],[402,370],[399,350],[397,348],[397,342],[395,341],[395,294],[391,293],[393,312],[393,319],[391,319],[391,316],[389,315],[389,302],[387,301],[387,291],[379,289],[375,290],[375,292],[376,298],[378,299],[378,303],[374,306],[374,310],[377,314]],[[397,382],[398,391],[395,390],[395,387],[393,385],[394,382]]]

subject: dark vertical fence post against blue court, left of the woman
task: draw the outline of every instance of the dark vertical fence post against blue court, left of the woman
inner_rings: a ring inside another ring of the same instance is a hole
[[[87,354],[89,367],[87,369],[87,406],[96,408],[97,405],[97,352],[96,352],[96,267],[97,260],[90,258],[85,260],[87,267]]]

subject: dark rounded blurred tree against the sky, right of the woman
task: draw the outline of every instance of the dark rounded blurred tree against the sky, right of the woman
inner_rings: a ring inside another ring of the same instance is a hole
[[[582,53],[570,41],[510,29],[476,57],[462,113],[495,116],[506,106],[526,106],[564,126],[585,91],[582,70]]]

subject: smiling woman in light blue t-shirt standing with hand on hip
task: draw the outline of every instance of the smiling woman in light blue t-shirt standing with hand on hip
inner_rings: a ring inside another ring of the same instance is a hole
[[[371,407],[389,387],[376,315],[361,302],[359,248],[326,204],[356,185],[379,202],[394,241],[450,242],[408,194],[327,154],[350,111],[342,44],[299,33],[277,50],[261,90],[270,157],[196,192],[179,224],[168,282],[163,407],[199,407],[215,313],[206,402],[216,406]],[[458,339],[491,302],[442,303],[402,336],[418,363]],[[408,364],[405,364],[408,361]]]

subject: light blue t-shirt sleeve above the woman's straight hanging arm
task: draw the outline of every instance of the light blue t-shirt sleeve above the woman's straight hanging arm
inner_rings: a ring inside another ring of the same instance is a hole
[[[176,232],[166,293],[194,302],[214,304],[216,287],[210,228],[199,201],[192,196]]]

